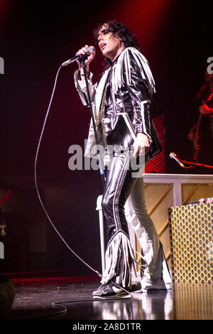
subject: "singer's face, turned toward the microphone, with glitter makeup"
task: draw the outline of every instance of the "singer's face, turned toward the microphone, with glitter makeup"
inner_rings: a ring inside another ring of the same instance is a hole
[[[97,36],[99,48],[103,55],[113,61],[122,50],[124,50],[124,43],[118,35],[115,35],[110,31],[107,24],[104,24]]]

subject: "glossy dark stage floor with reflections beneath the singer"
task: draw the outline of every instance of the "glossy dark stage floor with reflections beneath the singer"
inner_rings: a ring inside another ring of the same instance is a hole
[[[96,277],[13,279],[15,296],[6,320],[212,320],[208,283],[173,283],[171,292],[131,293],[132,298],[94,301]],[[58,303],[53,306],[53,303]]]

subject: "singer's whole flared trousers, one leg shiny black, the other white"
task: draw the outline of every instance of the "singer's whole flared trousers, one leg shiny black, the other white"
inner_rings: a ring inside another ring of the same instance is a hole
[[[114,281],[120,286],[131,286],[131,269],[136,261],[129,240],[128,222],[126,221],[124,205],[128,199],[128,220],[136,232],[141,244],[146,269],[143,269],[145,279],[165,283],[170,282],[170,273],[166,265],[163,248],[153,221],[148,216],[143,188],[143,166],[145,161],[133,163],[131,151],[113,156],[110,159],[104,186],[102,211],[105,223],[105,264],[102,284]],[[135,159],[137,160],[137,159]],[[138,169],[136,169],[138,167]],[[142,173],[142,175],[141,175]]]

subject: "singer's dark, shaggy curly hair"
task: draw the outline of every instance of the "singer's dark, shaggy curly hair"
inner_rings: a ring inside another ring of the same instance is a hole
[[[98,33],[102,26],[107,25],[111,33],[115,36],[116,34],[121,38],[121,41],[124,43],[125,48],[133,47],[140,51],[138,46],[138,41],[136,36],[125,26],[124,23],[121,23],[116,20],[109,20],[99,23],[97,28],[94,29],[94,38],[95,42],[97,43]],[[104,67],[109,68],[111,65],[111,60],[104,56]]]

